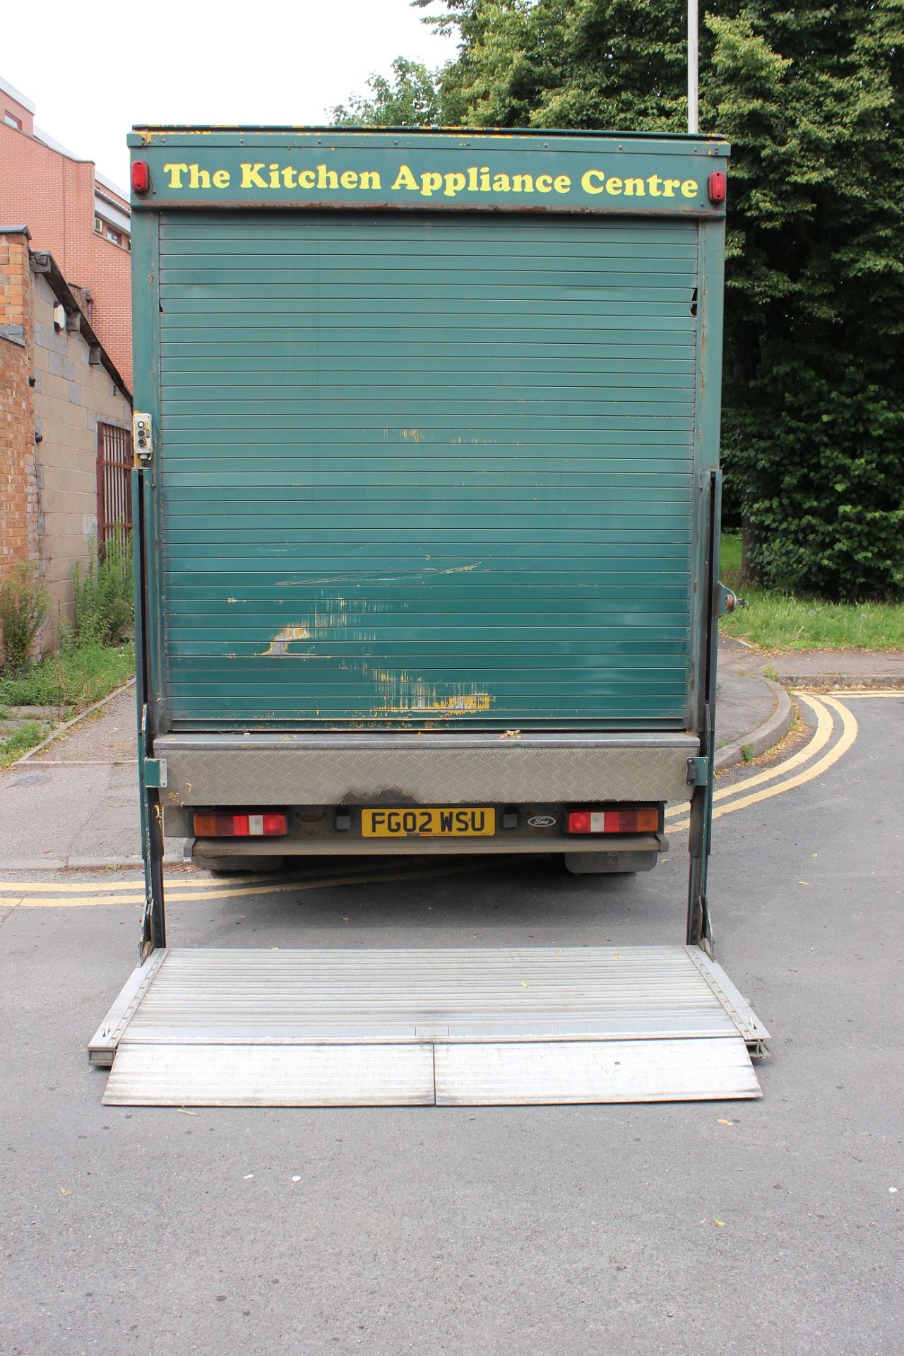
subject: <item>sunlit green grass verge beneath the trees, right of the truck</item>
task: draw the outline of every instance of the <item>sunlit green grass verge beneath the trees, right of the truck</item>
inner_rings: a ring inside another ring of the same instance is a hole
[[[904,605],[824,602],[740,586],[741,538],[722,537],[721,580],[740,589],[747,606],[722,617],[725,636],[760,650],[904,650]],[[1,697],[1,692],[0,692]]]

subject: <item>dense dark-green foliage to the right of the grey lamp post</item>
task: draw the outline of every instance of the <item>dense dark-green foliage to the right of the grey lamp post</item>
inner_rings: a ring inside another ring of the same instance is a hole
[[[736,145],[726,468],[767,580],[900,594],[904,5],[736,8],[706,84]]]

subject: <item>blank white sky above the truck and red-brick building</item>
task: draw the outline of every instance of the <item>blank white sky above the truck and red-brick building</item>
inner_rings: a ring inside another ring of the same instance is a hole
[[[397,56],[442,65],[455,41],[423,15],[408,0],[43,0],[0,76],[42,132],[125,188],[134,122],[323,123]]]

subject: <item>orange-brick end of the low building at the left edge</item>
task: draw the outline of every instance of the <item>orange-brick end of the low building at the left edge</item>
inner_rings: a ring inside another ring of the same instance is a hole
[[[0,325],[22,325],[26,346],[0,331],[0,580],[38,555],[34,457],[31,275],[24,236],[0,235]],[[3,637],[0,635],[0,655]]]

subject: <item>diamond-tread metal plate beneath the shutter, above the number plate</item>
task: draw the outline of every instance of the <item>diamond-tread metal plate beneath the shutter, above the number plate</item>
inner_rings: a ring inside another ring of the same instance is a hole
[[[155,740],[164,804],[689,800],[687,734],[180,734]]]

